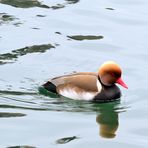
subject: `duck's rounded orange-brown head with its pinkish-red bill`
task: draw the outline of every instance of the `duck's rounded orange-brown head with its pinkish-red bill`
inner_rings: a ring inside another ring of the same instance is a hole
[[[108,61],[102,64],[98,74],[100,81],[106,86],[118,83],[124,88],[128,88],[121,78],[122,71],[120,66],[113,61]]]

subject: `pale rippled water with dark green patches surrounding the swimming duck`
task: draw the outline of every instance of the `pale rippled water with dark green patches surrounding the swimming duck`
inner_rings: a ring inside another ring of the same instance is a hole
[[[0,1],[0,148],[145,148],[148,2]],[[106,60],[123,69],[121,101],[58,98],[41,84]]]

